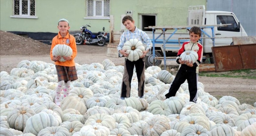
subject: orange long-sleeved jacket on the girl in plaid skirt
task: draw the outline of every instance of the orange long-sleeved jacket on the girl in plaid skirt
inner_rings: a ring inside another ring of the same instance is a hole
[[[52,47],[51,47],[51,51],[50,51],[51,60],[53,59],[52,49],[57,44],[66,44],[66,45],[70,46],[71,49],[73,50],[73,54],[71,55],[71,60],[65,61],[65,62],[56,61],[55,65],[68,66],[68,67],[75,66],[75,60],[74,59],[75,59],[76,54],[77,54],[75,37],[70,35],[69,32],[67,32],[67,35],[65,37],[62,37],[60,32],[59,32],[58,35],[56,35],[52,39]]]

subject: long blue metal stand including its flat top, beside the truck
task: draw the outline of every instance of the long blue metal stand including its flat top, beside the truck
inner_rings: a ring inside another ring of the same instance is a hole
[[[196,27],[199,27],[201,28],[201,31],[202,31],[202,34],[201,34],[201,39],[200,41],[202,42],[203,41],[203,34],[205,34],[208,38],[212,39],[213,40],[213,46],[215,46],[215,34],[214,34],[214,27],[227,27],[228,25],[231,25],[231,24],[220,24],[220,25],[202,25],[202,26],[196,26]],[[164,69],[166,70],[166,60],[170,60],[170,58],[166,58],[166,50],[165,50],[165,46],[166,46],[166,43],[170,43],[168,42],[168,40],[179,30],[179,29],[191,29],[192,27],[194,26],[149,26],[149,27],[145,27],[145,28],[151,28],[152,29],[152,33],[153,33],[153,39],[152,39],[152,47],[153,47],[153,65],[155,65],[155,59],[161,59],[161,57],[155,57],[155,42],[159,42],[157,41],[158,38],[160,36],[163,35],[163,60],[164,60]],[[206,33],[203,29],[204,28],[211,28],[212,30],[212,36],[210,36],[208,33]],[[157,38],[155,38],[155,31],[156,30],[162,30],[162,33],[160,33]],[[167,38],[165,39],[165,32],[167,30],[174,30],[174,32],[172,32],[172,34]]]

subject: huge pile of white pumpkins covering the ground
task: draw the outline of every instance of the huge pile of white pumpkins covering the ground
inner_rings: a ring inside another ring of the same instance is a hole
[[[0,135],[4,136],[255,136],[256,103],[232,96],[217,100],[198,82],[197,103],[188,84],[165,98],[175,78],[160,67],[145,71],[145,95],[138,97],[136,71],[131,97],[120,99],[124,67],[110,60],[77,64],[78,80],[61,106],[53,101],[58,77],[54,64],[23,60],[10,74],[2,71]],[[219,90],[221,91],[221,90]]]

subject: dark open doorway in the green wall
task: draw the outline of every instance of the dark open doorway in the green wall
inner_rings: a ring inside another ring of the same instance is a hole
[[[142,18],[142,30],[143,31],[152,31],[151,28],[145,28],[148,26],[156,26],[156,16],[155,15],[141,15]]]

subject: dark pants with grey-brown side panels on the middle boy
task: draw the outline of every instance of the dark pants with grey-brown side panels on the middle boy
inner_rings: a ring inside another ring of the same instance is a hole
[[[138,78],[138,96],[144,95],[144,84],[145,84],[145,57],[140,58],[137,61],[129,61],[125,59],[124,72],[122,79],[121,97],[130,97],[131,94],[131,81],[133,77],[133,69],[136,69]]]

